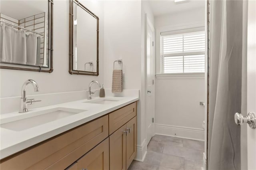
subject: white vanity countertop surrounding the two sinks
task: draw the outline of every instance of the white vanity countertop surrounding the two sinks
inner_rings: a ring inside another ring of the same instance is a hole
[[[48,138],[56,136],[62,132],[70,130],[74,127],[87,123],[93,119],[106,115],[116,109],[124,107],[130,103],[139,100],[139,97],[106,97],[108,99],[118,99],[119,101],[110,104],[96,104],[96,103],[83,103],[88,101],[87,99],[72,101],[68,103],[62,103],[58,105],[51,105],[46,107],[40,107],[35,109],[29,109],[27,113],[6,113],[1,115],[1,124],[6,120],[12,119],[17,115],[26,115],[38,111],[44,111],[46,109],[52,109],[56,107],[64,107],[71,109],[86,110],[81,113],[77,113],[56,121],[48,122],[36,127],[28,128],[22,131],[14,131],[0,127],[0,159],[10,156],[20,150],[28,148],[34,144],[42,142]],[[97,100],[99,97],[95,97],[92,100]],[[102,99],[102,98],[101,98]],[[90,100],[90,101],[92,101]]]

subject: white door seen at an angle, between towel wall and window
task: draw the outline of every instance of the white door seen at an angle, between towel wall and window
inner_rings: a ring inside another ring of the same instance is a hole
[[[154,136],[154,27],[146,16],[146,140]]]

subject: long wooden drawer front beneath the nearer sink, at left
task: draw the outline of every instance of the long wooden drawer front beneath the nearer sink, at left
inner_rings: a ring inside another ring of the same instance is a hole
[[[1,160],[0,168],[65,169],[108,136],[108,115]]]

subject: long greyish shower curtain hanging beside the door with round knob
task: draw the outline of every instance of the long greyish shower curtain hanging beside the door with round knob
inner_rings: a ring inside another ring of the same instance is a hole
[[[242,0],[210,1],[208,170],[240,170]]]

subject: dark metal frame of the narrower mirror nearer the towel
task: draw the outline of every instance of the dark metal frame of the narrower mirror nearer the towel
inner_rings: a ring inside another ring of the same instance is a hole
[[[83,4],[78,2],[78,0],[69,0],[69,73],[70,74],[79,74],[79,75],[99,75],[99,17],[86,8]],[[76,3],[80,8],[88,12],[91,16],[97,20],[97,71],[80,71],[74,70],[74,3]]]

